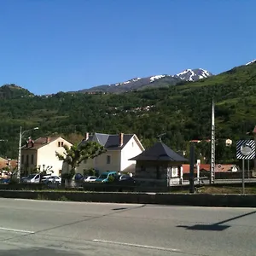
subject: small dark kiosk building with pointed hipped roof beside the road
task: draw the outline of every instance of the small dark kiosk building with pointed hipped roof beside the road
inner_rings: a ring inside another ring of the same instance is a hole
[[[182,183],[182,165],[188,160],[168,148],[164,143],[155,143],[153,147],[131,158],[136,160],[137,180],[156,186],[172,186]]]

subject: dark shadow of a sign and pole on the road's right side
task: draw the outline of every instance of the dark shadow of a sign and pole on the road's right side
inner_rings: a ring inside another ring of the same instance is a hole
[[[237,219],[237,218],[243,218],[243,217],[246,217],[246,216],[254,214],[254,213],[256,213],[256,211],[241,214],[234,218],[228,218],[228,219],[225,219],[223,221],[220,221],[220,222],[214,223],[214,224],[195,224],[193,226],[177,225],[177,228],[185,228],[186,230],[223,231],[223,230],[226,230],[231,227],[231,225],[223,225],[224,223],[229,222],[234,219]]]

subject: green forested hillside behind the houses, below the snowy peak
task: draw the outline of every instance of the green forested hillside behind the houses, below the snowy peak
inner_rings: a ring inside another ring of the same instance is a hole
[[[39,130],[29,134],[32,137],[61,134],[73,142],[86,131],[136,133],[145,148],[166,133],[164,143],[188,151],[190,140],[210,138],[213,97],[216,158],[234,161],[234,143],[250,138],[247,132],[256,125],[256,63],[198,82],[163,85],[118,95],[59,92],[49,96],[34,96],[14,84],[2,86],[0,155],[17,156],[20,125],[23,129],[38,126]],[[232,147],[224,146],[226,138],[234,141]],[[201,143],[196,150],[208,161],[210,143]]]

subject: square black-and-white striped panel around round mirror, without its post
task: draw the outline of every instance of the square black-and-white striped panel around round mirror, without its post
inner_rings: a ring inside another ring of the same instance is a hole
[[[251,160],[255,158],[255,142],[240,140],[236,143],[236,158]]]

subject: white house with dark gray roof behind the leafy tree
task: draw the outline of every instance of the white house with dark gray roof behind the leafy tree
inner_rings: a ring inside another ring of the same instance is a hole
[[[81,143],[97,142],[100,143],[107,152],[97,156],[93,160],[82,162],[76,172],[84,173],[84,170],[94,168],[99,174],[107,171],[115,172],[135,172],[136,160],[131,161],[132,157],[141,154],[144,150],[142,143],[136,134],[103,134],[86,133]]]

